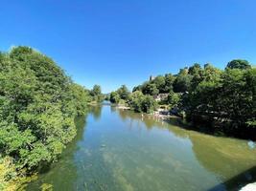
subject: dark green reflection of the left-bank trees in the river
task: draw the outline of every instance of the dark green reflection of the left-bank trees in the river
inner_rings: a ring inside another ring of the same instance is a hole
[[[76,118],[77,136],[70,142],[57,162],[53,163],[48,171],[38,175],[38,180],[29,184],[27,190],[40,190],[43,183],[52,184],[54,190],[76,190],[75,182],[78,179],[77,166],[74,155],[78,150],[77,143],[83,138],[85,117]]]

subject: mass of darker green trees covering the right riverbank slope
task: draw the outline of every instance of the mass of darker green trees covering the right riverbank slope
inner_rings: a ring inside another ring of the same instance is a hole
[[[159,94],[166,98],[156,101]],[[196,63],[178,74],[158,75],[134,87],[132,93],[122,86],[109,98],[137,112],[151,113],[157,104],[165,105],[195,123],[206,121],[231,135],[241,134],[244,128],[256,127],[256,68],[241,59],[230,61],[225,70]]]

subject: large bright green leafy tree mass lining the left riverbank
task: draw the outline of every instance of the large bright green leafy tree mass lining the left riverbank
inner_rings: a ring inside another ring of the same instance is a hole
[[[20,185],[58,159],[76,136],[75,117],[103,100],[74,83],[49,57],[29,47],[0,53],[0,190]]]

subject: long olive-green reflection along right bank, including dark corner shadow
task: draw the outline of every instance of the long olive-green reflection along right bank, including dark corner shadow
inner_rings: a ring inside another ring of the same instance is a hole
[[[116,111],[112,109],[113,111]],[[208,191],[237,191],[245,184],[256,181],[255,150],[242,139],[213,136],[211,131],[202,133],[180,118],[163,122],[152,116],[141,117],[130,111],[117,110],[123,120],[143,122],[148,130],[166,129],[178,138],[189,138],[192,150],[201,166],[221,181]]]

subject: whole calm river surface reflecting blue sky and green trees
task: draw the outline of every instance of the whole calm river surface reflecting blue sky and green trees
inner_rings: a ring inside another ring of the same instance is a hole
[[[86,122],[85,122],[86,121]],[[29,191],[237,190],[256,180],[256,149],[179,127],[178,119],[94,107],[79,118],[78,136]]]

